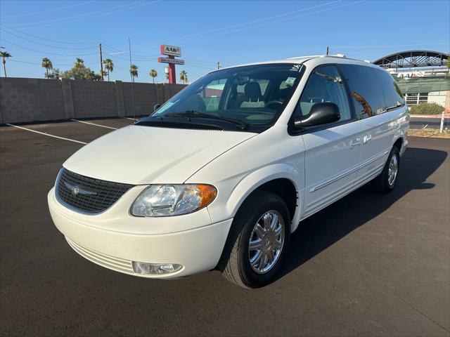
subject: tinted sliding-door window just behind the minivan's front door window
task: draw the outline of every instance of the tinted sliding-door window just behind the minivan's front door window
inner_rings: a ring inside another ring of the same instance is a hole
[[[347,79],[356,117],[359,119],[383,114],[385,95],[380,80],[371,67],[362,65],[339,65]]]

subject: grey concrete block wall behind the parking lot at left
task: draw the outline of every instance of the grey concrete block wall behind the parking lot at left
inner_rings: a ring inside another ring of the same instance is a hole
[[[143,116],[182,88],[182,84],[1,78],[0,123],[133,116],[133,105],[136,116]]]

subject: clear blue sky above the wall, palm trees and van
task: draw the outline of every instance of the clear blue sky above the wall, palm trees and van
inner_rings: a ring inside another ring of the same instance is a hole
[[[115,64],[110,79],[164,82],[160,44],[181,47],[189,81],[216,69],[299,55],[343,53],[376,60],[412,49],[450,51],[450,1],[0,1],[1,51],[8,77],[44,78],[41,59],[61,71],[75,58],[99,72]],[[3,72],[2,72],[3,75]],[[179,77],[179,75],[177,75]],[[177,79],[179,81],[179,79]]]

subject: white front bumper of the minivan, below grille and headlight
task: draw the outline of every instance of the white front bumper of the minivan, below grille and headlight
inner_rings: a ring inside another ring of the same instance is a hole
[[[123,200],[101,215],[86,216],[61,205],[54,188],[47,199],[53,223],[72,249],[98,265],[140,277],[184,277],[213,269],[219,262],[233,221],[211,224],[205,220],[210,218],[205,214],[207,209],[167,218],[136,218],[127,212],[118,216],[117,207],[120,208]],[[190,229],[186,229],[186,224],[179,224],[184,221],[189,222]],[[161,233],[161,229],[171,227],[171,223],[172,230]],[[183,267],[170,274],[142,275],[134,273],[131,261],[176,263]]]

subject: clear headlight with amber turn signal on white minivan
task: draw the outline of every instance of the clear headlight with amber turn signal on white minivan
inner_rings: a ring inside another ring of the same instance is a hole
[[[150,185],[131,206],[133,216],[179,216],[211,204],[217,195],[211,185]]]

